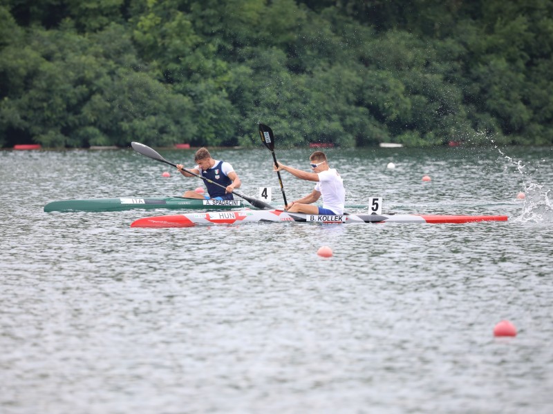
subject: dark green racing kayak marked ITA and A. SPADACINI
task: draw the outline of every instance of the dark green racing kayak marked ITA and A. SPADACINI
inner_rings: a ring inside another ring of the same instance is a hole
[[[250,204],[241,200],[203,200],[185,197],[120,197],[114,199],[83,199],[52,201],[44,206],[44,211],[122,211],[142,208],[169,208],[171,210],[229,210],[231,208],[250,207]]]

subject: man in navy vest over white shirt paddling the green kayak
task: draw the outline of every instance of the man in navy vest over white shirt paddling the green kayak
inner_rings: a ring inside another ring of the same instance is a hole
[[[234,168],[232,168],[229,163],[213,159],[207,148],[200,148],[197,150],[196,155],[194,155],[194,161],[198,165],[191,169],[187,168],[189,171],[194,172],[194,174],[202,175],[202,177],[210,179],[221,186],[225,186],[226,188],[215,186],[209,181],[204,180],[209,196],[201,195],[196,193],[196,191],[188,190],[182,197],[218,200],[234,199],[234,197],[232,197],[232,190],[234,190],[234,188],[240,188],[242,182],[240,181],[240,178],[238,178],[238,175],[236,175],[236,172],[234,172]],[[182,164],[177,164],[177,169],[182,175],[185,177],[194,177],[194,175],[182,170],[182,168],[185,167],[182,166]]]

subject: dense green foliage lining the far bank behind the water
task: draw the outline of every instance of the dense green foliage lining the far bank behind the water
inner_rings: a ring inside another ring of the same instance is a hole
[[[553,144],[552,0],[0,4],[0,146]]]

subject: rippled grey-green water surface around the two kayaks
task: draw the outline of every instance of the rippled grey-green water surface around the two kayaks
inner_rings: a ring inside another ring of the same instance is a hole
[[[281,202],[268,150],[213,153]],[[131,229],[174,211],[42,208],[201,181],[131,150],[0,152],[0,412],[552,412],[552,148],[328,154],[348,204],[509,221]]]

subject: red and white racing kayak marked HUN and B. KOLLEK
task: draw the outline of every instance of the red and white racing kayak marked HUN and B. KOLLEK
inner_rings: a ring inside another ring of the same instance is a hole
[[[506,215],[308,215],[288,213],[283,210],[237,210],[214,211],[205,213],[187,213],[144,217],[133,221],[131,227],[167,228],[191,227],[197,224],[242,224],[242,223],[336,223],[336,224],[384,224],[384,223],[471,223],[475,221],[507,221]]]

